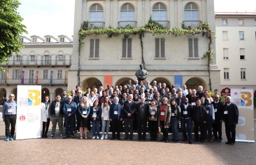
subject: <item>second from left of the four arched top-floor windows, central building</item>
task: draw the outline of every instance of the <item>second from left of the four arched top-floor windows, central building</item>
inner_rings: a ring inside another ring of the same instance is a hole
[[[135,20],[135,10],[130,3],[126,3],[121,7],[121,21]]]

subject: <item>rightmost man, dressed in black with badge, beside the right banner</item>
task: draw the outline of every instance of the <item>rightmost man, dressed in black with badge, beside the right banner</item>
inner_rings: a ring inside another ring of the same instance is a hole
[[[237,105],[231,102],[231,97],[226,97],[224,105],[224,122],[226,129],[227,142],[226,144],[234,145],[235,143],[235,126],[238,123],[239,111]]]

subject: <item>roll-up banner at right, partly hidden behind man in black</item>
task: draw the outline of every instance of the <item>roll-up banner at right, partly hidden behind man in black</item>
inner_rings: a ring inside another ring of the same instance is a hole
[[[239,110],[235,141],[254,141],[253,89],[231,89],[231,101]]]

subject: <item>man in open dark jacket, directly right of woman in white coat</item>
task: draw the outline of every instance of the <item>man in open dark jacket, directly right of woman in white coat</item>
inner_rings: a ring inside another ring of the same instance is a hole
[[[63,138],[62,132],[63,132],[64,101],[60,101],[60,98],[61,98],[60,94],[57,94],[55,97],[55,100],[51,102],[50,107],[48,109],[48,114],[50,116],[51,123],[52,123],[50,138],[54,138],[57,123],[59,126],[59,134],[60,134],[59,137]]]

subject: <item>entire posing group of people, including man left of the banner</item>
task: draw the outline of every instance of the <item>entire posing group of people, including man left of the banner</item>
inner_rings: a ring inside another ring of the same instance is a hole
[[[50,102],[48,96],[42,102],[42,138],[47,138],[48,127],[52,122],[52,131],[49,138],[55,137],[58,123],[60,138],[74,138],[75,133],[80,133],[80,139],[87,139],[87,133],[92,129],[92,139],[108,139],[109,126],[111,126],[113,139],[120,140],[120,132],[125,132],[125,140],[133,140],[133,132],[137,131],[139,141],[146,140],[147,126],[151,135],[150,141],[157,141],[157,135],[162,133],[161,141],[168,142],[169,131],[172,131],[173,142],[180,141],[178,135],[179,125],[182,130],[182,141],[192,144],[192,127],[194,127],[194,142],[221,142],[222,122],[225,122],[226,144],[235,142],[235,126],[238,123],[238,108],[231,103],[231,97],[226,96],[225,103],[221,102],[218,90],[214,96],[209,91],[203,92],[202,86],[196,89],[172,89],[166,84],[149,81],[144,85],[135,80],[121,86],[107,85],[106,89],[100,86],[91,91],[87,88],[83,94],[80,86],[57,94],[55,100]],[[14,115],[10,102],[6,101],[3,108],[3,120],[6,122],[6,139],[13,140],[14,127],[9,132],[11,118]],[[12,104],[14,105],[14,104]],[[63,130],[64,118],[64,130]],[[91,127],[92,125],[92,127]],[[101,137],[100,137],[101,127]],[[200,137],[198,131],[200,130]],[[83,137],[84,132],[84,137]],[[213,135],[212,135],[213,134]]]

